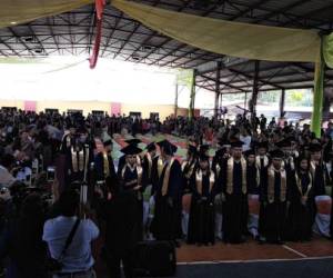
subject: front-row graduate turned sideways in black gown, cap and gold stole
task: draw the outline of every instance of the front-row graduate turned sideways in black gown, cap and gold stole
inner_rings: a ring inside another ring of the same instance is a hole
[[[173,157],[176,147],[163,140],[158,143],[163,159],[163,169],[155,188],[155,210],[151,231],[158,240],[173,240],[175,245],[180,230],[182,170]]]

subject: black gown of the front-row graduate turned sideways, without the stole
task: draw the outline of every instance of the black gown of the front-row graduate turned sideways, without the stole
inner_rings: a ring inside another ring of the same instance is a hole
[[[162,196],[162,185],[168,165],[164,166],[155,188],[155,210],[151,231],[158,240],[175,240],[180,235],[182,170],[175,159],[170,169],[169,186]]]

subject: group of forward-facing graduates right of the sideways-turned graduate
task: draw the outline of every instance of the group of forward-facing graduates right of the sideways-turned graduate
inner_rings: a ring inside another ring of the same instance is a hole
[[[283,139],[279,149],[266,152],[268,143],[258,151],[242,153],[242,142],[229,150],[216,151],[210,170],[208,153],[189,147],[183,163],[184,193],[192,193],[188,241],[213,244],[216,197],[222,206],[222,235],[225,242],[240,244],[249,235],[249,200],[260,202],[259,234],[261,241],[310,240],[316,212],[315,196],[325,195],[330,175],[321,162],[321,146],[310,146],[310,156],[282,151],[289,147]],[[199,162],[198,162],[199,161]],[[201,186],[202,182],[202,186]],[[204,188],[204,189],[201,189]]]

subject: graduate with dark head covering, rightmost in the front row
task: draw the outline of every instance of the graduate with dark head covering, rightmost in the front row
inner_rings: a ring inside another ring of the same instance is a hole
[[[290,185],[290,208],[287,216],[287,239],[305,241],[311,239],[314,215],[313,178],[306,157],[299,159]]]

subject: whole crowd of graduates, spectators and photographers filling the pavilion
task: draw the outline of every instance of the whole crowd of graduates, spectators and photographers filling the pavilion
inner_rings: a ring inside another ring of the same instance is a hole
[[[115,162],[113,138],[127,132]],[[144,132],[185,137],[186,158],[167,139],[139,148]],[[148,239],[306,241],[320,201],[331,200],[333,123],[317,138],[264,116],[160,122],[1,110],[0,136],[0,255],[12,278],[95,277],[100,234],[110,277],[121,277],[121,262],[134,277],[135,246]],[[330,237],[333,221],[317,230]]]

